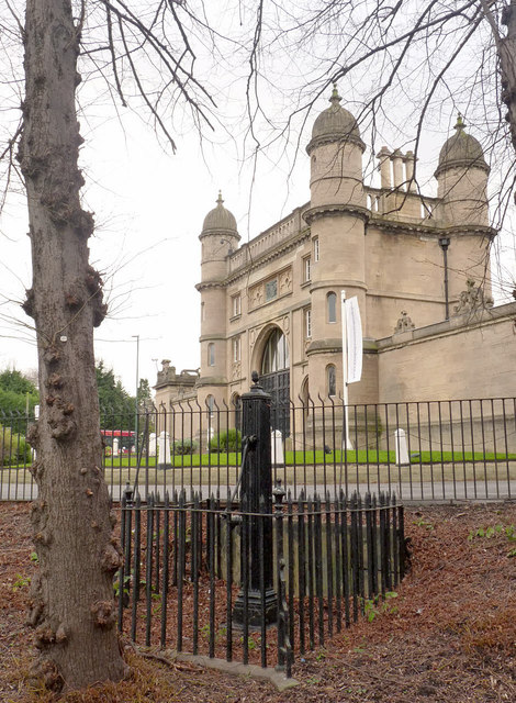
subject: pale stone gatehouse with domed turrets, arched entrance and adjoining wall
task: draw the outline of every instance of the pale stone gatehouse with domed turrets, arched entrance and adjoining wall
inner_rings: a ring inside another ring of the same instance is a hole
[[[516,303],[493,306],[487,178],[459,115],[436,165],[437,198],[413,179],[414,155],[382,147],[380,188],[362,175],[366,144],[340,105],[306,147],[311,199],[240,245],[218,196],[201,241],[201,364],[158,373],[158,406],[232,406],[253,370],[299,404],[343,390],[340,290],[358,298],[363,370],[350,403],[516,395]]]

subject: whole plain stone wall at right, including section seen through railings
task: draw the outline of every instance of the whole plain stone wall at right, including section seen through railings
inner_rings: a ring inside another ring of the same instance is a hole
[[[419,405],[428,415],[420,431],[413,405],[397,424],[408,427],[416,450],[516,451],[514,401],[474,400],[516,397],[515,319],[516,303],[508,303],[378,342],[380,403],[467,400]]]

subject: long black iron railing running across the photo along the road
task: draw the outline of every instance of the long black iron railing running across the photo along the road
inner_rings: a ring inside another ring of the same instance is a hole
[[[285,409],[281,409],[284,413]],[[516,399],[344,406],[290,403],[289,434],[271,431],[273,479],[295,499],[340,490],[396,491],[402,500],[512,499],[516,493]],[[271,427],[277,426],[271,408]],[[0,411],[0,496],[32,499],[34,417]],[[134,415],[102,411],[104,476],[114,501],[186,488],[231,495],[242,462],[240,406],[197,402]],[[346,433],[346,424],[348,432]],[[137,432],[135,432],[137,427]]]

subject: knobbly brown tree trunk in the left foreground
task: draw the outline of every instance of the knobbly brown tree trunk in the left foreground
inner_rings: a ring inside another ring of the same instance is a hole
[[[70,0],[27,0],[26,97],[19,158],[26,181],[41,419],[31,442],[40,495],[32,505],[40,573],[32,584],[40,672],[48,687],[120,680],[113,573],[120,551],[110,499],[94,372],[93,326],[102,322],[102,281],[88,263],[93,219],[81,209],[82,140],[75,91],[79,32]]]

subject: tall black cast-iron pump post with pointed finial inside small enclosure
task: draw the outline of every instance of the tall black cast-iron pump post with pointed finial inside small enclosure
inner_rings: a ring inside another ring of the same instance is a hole
[[[258,373],[253,371],[254,386],[248,393],[242,395],[242,434],[243,445],[247,443],[246,461],[242,473],[242,502],[246,512],[250,513],[249,559],[243,567],[248,570],[248,625],[258,629],[271,625],[278,620],[278,596],[273,588],[272,567],[272,470],[270,459],[270,395],[258,383]],[[262,506],[262,507],[261,507]],[[260,515],[260,510],[265,515]],[[260,526],[262,521],[263,555],[262,573],[260,573]],[[244,527],[243,527],[244,528]],[[265,589],[265,609],[260,592],[260,579]],[[244,579],[242,579],[245,582]],[[244,624],[243,589],[238,593],[233,610],[233,622]]]

